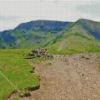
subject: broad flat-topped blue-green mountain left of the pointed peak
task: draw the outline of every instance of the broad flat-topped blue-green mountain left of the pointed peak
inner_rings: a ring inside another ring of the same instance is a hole
[[[61,36],[72,22],[38,20],[20,24],[0,33],[0,48],[43,47]]]

